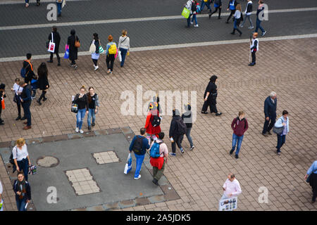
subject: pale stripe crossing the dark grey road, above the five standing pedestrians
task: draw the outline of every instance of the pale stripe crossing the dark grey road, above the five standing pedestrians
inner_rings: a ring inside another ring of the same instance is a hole
[[[289,8],[289,9],[276,9],[270,10],[269,13],[294,13],[303,11],[317,11],[317,7],[313,8]],[[253,12],[252,14],[255,14]],[[198,18],[206,17],[207,14],[197,15]],[[223,16],[230,15],[230,13],[222,13]],[[213,14],[213,17],[218,15]],[[128,18],[128,19],[113,19],[113,20],[92,20],[92,21],[78,21],[78,22],[67,22],[67,23],[43,23],[35,25],[15,25],[15,26],[5,26],[0,27],[0,30],[18,30],[18,29],[35,29],[43,27],[51,27],[56,25],[58,27],[66,26],[79,26],[79,25],[97,25],[97,24],[108,24],[108,23],[132,23],[132,22],[144,22],[144,21],[157,21],[157,20],[178,20],[184,19],[182,15],[170,15],[170,16],[158,16],[158,17],[146,17],[146,18]]]

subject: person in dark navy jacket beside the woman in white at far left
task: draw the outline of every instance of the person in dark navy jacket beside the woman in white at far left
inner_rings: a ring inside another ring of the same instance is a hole
[[[20,95],[20,101],[22,104],[22,108],[24,110],[25,118],[27,119],[27,122],[23,122],[23,124],[26,124],[26,126],[23,127],[23,129],[31,129],[32,128],[31,127],[31,111],[30,111],[30,105],[32,103],[31,86],[30,84],[24,83],[22,87],[23,87],[23,90],[22,90],[22,94]]]

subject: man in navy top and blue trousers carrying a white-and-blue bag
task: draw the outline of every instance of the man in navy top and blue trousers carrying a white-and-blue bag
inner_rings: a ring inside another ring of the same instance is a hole
[[[135,180],[141,178],[139,172],[141,171],[145,153],[147,153],[147,149],[150,148],[149,139],[146,138],[145,131],[145,128],[141,128],[139,130],[139,135],[136,135],[132,139],[129,148],[130,153],[132,152],[132,150],[135,152],[135,159],[137,160],[137,165],[135,167]]]

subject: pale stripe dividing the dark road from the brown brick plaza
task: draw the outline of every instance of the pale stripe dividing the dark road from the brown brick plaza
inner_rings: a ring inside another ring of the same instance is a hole
[[[299,35],[289,35],[289,36],[278,36],[278,37],[261,37],[261,41],[280,41],[280,40],[290,40],[290,39],[303,39],[303,38],[313,38],[317,37],[317,34],[299,34]],[[241,44],[249,43],[250,39],[237,39],[237,40],[227,40],[227,41],[206,41],[206,42],[197,42],[197,43],[188,43],[188,44],[168,44],[168,45],[159,45],[159,46],[145,46],[145,47],[136,47],[131,48],[131,52],[135,51],[152,51],[152,50],[162,50],[162,49],[179,49],[179,48],[188,48],[188,47],[200,47],[200,46],[211,46],[218,44]],[[63,55],[65,52],[60,52]],[[91,53],[89,51],[80,51],[78,56],[89,56]],[[32,56],[32,59],[47,59],[49,53],[45,55]],[[63,57],[63,56],[62,56]],[[11,61],[22,61],[25,60],[25,56],[17,57],[7,57],[0,58],[0,63],[11,62]]]

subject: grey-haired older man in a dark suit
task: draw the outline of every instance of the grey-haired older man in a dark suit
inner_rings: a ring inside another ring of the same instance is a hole
[[[263,136],[268,136],[268,134],[272,135],[270,131],[275,124],[277,106],[278,99],[276,98],[276,93],[272,91],[270,96],[268,96],[268,98],[266,98],[266,101],[264,101],[264,114],[266,116],[266,121],[264,122],[263,126]]]

